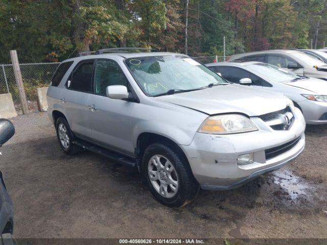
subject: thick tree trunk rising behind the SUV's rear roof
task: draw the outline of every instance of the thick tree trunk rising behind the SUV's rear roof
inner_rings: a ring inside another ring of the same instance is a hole
[[[89,43],[85,38],[84,32],[86,29],[85,23],[79,18],[81,14],[81,0],[73,1],[73,26],[74,26],[74,40],[76,43],[77,51],[84,52],[90,51]]]

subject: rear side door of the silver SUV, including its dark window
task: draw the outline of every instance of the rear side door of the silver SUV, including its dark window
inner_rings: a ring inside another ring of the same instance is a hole
[[[92,76],[95,60],[81,61],[68,77],[60,94],[68,124],[79,137],[90,139],[92,130],[89,122],[88,97],[93,93]]]

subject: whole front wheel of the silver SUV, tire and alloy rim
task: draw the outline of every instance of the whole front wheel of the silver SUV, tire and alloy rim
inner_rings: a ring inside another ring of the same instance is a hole
[[[150,191],[160,203],[182,207],[196,197],[199,184],[179,149],[151,144],[145,150],[142,166]]]

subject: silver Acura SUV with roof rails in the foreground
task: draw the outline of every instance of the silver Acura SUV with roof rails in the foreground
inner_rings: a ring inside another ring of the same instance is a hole
[[[137,168],[171,207],[199,187],[237,188],[305,147],[305,120],[287,97],[231,84],[181,54],[101,50],[65,60],[48,105],[63,151]]]

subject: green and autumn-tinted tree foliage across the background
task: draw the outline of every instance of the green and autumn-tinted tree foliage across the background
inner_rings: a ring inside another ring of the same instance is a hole
[[[327,39],[327,0],[191,0],[190,55],[306,48]],[[183,52],[185,0],[0,0],[0,63],[53,62],[80,51],[143,46]]]

